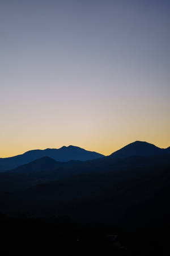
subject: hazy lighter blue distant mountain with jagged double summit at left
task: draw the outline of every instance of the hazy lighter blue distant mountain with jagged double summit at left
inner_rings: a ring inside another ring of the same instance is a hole
[[[86,161],[104,157],[104,155],[97,152],[87,151],[83,148],[70,145],[69,147],[63,146],[58,149],[46,148],[45,150],[31,150],[22,155],[12,156],[11,158],[0,158],[0,170],[11,170],[44,156],[49,156],[50,158],[61,162],[67,162],[70,160]]]

